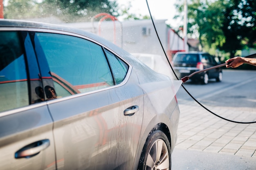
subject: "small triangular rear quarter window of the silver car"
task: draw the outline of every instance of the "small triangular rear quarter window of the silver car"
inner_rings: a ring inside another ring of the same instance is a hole
[[[126,76],[126,73],[128,71],[128,65],[110,51],[105,50],[105,52],[108,57],[112,74],[115,78],[115,84],[120,84]]]

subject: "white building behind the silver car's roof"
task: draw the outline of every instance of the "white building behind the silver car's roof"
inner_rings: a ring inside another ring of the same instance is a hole
[[[154,20],[155,28],[165,53],[171,55],[177,51],[189,49],[188,44],[165,24],[166,20]],[[151,20],[117,20],[100,22],[67,23],[67,26],[96,33],[130,53],[163,54],[157,34]]]

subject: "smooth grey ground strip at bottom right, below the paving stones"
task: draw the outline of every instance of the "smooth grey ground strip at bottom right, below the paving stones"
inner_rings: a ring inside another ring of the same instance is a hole
[[[256,170],[255,158],[175,148],[172,170]]]

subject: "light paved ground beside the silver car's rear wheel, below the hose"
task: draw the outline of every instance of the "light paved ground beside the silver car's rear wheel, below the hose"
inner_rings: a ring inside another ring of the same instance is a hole
[[[172,170],[256,170],[256,124],[228,122],[196,102],[179,102],[181,114]],[[242,113],[243,109],[236,111]],[[218,113],[229,118],[233,112],[230,110],[218,107]],[[234,115],[243,119],[243,114]],[[247,116],[256,117],[254,113]]]

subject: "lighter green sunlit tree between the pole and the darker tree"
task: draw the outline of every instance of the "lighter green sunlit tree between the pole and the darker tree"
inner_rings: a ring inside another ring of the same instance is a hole
[[[183,2],[176,4],[176,8],[183,12]],[[205,0],[188,1],[188,36],[197,35],[197,38],[204,49],[216,49],[219,44],[223,44],[224,35],[221,30],[221,9],[222,3],[219,1],[209,3]],[[176,18],[182,15],[175,16]]]

